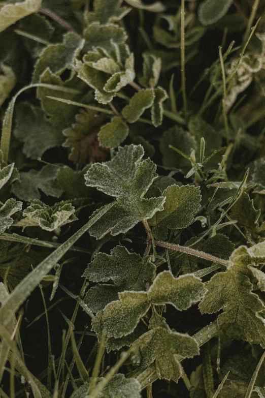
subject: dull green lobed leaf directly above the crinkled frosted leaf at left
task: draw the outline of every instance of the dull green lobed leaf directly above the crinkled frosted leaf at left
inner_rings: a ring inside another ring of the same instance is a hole
[[[20,180],[12,186],[12,192],[19,199],[30,201],[40,199],[39,189],[47,196],[59,198],[63,190],[60,187],[57,177],[57,167],[45,165],[40,171],[31,169],[20,173]]]

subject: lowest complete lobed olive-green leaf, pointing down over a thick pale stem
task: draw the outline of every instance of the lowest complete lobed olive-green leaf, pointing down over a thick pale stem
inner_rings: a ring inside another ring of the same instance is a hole
[[[132,363],[143,371],[155,361],[159,379],[174,380],[181,377],[181,367],[177,355],[183,358],[198,355],[197,342],[188,334],[172,331],[164,318],[157,313],[152,315],[148,332],[144,333],[132,346]],[[140,362],[140,363],[139,363]]]

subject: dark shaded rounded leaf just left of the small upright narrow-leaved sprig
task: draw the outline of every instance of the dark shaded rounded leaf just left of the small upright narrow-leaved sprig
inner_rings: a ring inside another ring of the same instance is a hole
[[[181,127],[174,126],[163,133],[160,141],[163,165],[186,174],[190,170],[190,162],[169,148],[169,145],[175,146],[185,155],[190,156],[191,150],[196,147],[194,138]]]

